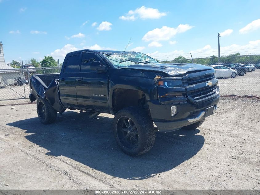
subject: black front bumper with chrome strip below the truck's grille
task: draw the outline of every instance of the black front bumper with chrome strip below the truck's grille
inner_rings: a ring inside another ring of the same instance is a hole
[[[184,126],[196,123],[213,114],[217,109],[219,95],[214,99],[193,104],[188,101],[175,105],[162,105],[159,102],[148,102],[154,124],[161,132],[178,130]],[[177,107],[177,113],[171,116],[171,106]]]

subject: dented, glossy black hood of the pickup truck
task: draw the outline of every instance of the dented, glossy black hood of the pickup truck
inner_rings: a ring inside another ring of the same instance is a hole
[[[192,63],[133,64],[128,67],[122,67],[122,68],[164,72],[169,76],[182,75],[190,71],[204,71],[204,70],[213,69],[212,67],[208,67],[201,64],[192,64]]]

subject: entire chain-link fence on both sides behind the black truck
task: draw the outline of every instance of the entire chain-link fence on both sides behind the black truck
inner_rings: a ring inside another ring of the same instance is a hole
[[[234,55],[162,62],[214,66],[221,95],[260,96],[260,55]],[[60,71],[61,67],[0,70],[0,105],[29,103],[31,75],[54,74]]]

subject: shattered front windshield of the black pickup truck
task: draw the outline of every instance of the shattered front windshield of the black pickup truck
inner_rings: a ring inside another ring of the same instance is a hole
[[[147,64],[158,63],[155,59],[139,52],[125,52],[125,53],[103,53],[103,55],[111,62],[115,67],[128,67],[133,64]]]

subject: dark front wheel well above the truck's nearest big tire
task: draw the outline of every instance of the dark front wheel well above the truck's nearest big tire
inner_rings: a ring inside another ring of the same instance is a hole
[[[115,89],[113,91],[113,110],[117,113],[123,108],[136,106],[148,108],[145,94],[134,89]]]

